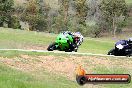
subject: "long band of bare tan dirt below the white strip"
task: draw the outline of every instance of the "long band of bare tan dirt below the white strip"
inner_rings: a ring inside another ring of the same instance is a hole
[[[108,69],[111,66],[120,66],[123,69],[132,70],[132,60],[114,59],[96,56],[28,56],[21,55],[13,59],[0,58],[1,62],[13,68],[34,73],[41,70],[47,70],[51,73],[65,75],[71,80],[75,80],[75,68],[82,65],[88,73],[92,73],[93,68],[102,65]],[[114,69],[114,68],[113,68]]]

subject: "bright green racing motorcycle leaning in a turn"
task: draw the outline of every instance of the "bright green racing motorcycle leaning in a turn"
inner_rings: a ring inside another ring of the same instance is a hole
[[[77,48],[71,48],[70,43],[73,43],[74,39],[72,35],[60,33],[56,41],[50,44],[47,48],[48,51],[59,50],[65,52],[77,52]]]

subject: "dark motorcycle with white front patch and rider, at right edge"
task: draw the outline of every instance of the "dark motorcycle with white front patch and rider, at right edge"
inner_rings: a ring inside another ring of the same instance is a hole
[[[115,48],[108,52],[108,55],[115,56],[131,56],[132,46],[130,46],[125,40],[120,40],[115,44]]]

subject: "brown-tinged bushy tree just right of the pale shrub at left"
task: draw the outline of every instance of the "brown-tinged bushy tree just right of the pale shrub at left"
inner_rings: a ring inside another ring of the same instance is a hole
[[[49,9],[43,0],[29,0],[21,14],[21,20],[29,23],[29,30],[44,31],[47,29]]]

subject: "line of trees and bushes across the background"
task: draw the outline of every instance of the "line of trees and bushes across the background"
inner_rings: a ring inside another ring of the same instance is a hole
[[[45,0],[0,0],[0,26],[21,29],[20,21],[31,31],[59,33],[80,31],[84,36],[116,35],[126,26],[128,6],[125,0],[58,0],[52,7]]]

